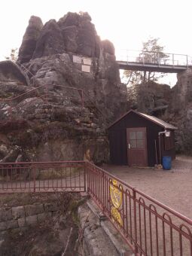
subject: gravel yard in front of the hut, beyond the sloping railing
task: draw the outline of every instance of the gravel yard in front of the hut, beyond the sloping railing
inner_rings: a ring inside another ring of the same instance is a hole
[[[102,168],[192,219],[192,157],[179,155],[169,171],[114,165]]]

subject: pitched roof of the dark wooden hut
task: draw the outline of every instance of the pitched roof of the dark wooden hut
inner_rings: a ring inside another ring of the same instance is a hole
[[[133,112],[135,114],[138,114],[141,117],[144,117],[145,119],[151,120],[151,122],[156,123],[159,126],[162,126],[163,128],[167,129],[167,130],[177,130],[178,128],[173,126],[170,123],[166,123],[163,120],[160,120],[157,117],[151,116],[149,114],[143,114],[141,112],[138,111],[134,111],[133,109],[131,109],[130,111],[126,112],[125,114],[123,114],[120,118],[118,118],[117,120],[114,121],[114,123],[117,123],[118,121],[120,121],[123,117],[125,117],[127,114],[130,114],[130,112]],[[111,128],[111,126],[114,125],[114,123],[111,123],[110,126],[108,126],[108,129]]]

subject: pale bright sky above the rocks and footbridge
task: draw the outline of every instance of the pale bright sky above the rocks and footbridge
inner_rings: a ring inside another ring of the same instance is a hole
[[[67,12],[87,11],[101,39],[113,42],[116,53],[141,50],[149,36],[160,38],[166,53],[192,56],[191,0],[6,0],[0,6],[0,59],[19,48],[32,15],[43,23]],[[175,75],[166,77],[175,83]]]

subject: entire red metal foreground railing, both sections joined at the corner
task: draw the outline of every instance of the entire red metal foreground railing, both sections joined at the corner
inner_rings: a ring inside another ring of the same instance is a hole
[[[0,164],[0,194],[87,191],[135,255],[192,256],[192,221],[84,161]]]

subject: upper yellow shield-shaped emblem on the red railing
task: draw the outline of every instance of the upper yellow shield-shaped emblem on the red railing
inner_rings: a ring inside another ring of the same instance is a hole
[[[122,203],[122,197],[123,197],[123,187],[120,185],[120,187],[117,187],[117,181],[113,179],[111,181],[110,187],[110,196],[111,201],[116,209],[119,209]]]

